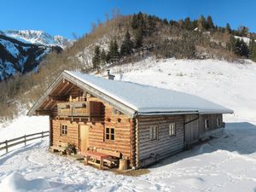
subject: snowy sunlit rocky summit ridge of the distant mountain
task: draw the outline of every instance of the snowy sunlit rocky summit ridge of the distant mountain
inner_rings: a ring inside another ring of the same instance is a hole
[[[9,30],[3,32],[9,38],[15,38],[24,43],[42,44],[45,46],[59,46],[62,49],[73,44],[73,40],[56,35],[52,36],[47,32],[36,30]]]

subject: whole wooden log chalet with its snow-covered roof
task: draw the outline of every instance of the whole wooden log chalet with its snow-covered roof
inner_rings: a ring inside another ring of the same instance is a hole
[[[52,148],[73,143],[139,168],[223,131],[223,113],[233,112],[198,96],[64,71],[28,115],[49,115]]]

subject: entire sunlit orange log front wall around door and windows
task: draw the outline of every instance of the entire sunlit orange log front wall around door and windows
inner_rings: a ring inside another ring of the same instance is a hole
[[[73,87],[70,94],[67,95],[67,102],[72,97],[72,100],[79,101],[83,96],[84,91],[79,87]],[[85,94],[87,102],[102,102],[102,100]],[[134,121],[125,114],[116,111],[110,104],[102,102],[102,120],[97,121],[88,119],[79,122],[72,121],[70,118],[58,119],[57,108],[52,109],[52,130],[53,130],[53,145],[57,145],[59,141],[63,143],[74,143],[79,148],[79,124],[89,125],[89,148],[105,148],[114,151],[119,151],[126,159],[129,160],[130,166],[134,166]],[[61,124],[67,125],[67,136],[61,136]],[[114,128],[114,140],[106,140],[105,128]]]

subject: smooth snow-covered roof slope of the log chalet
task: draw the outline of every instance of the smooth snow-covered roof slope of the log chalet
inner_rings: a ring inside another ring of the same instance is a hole
[[[233,113],[214,102],[176,90],[119,80],[102,79],[89,74],[65,71],[103,94],[112,97],[138,114],[152,113]]]

